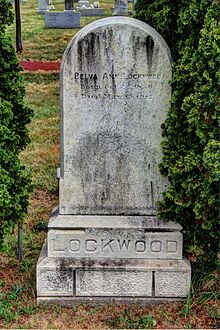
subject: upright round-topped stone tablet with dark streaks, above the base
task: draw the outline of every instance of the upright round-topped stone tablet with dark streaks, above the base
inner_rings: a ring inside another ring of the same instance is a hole
[[[169,48],[143,22],[105,18],[72,39],[61,66],[61,214],[156,213],[170,79]]]

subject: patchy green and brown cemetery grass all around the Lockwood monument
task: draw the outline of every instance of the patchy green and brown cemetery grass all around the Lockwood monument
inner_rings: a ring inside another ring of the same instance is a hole
[[[54,1],[56,9],[63,3]],[[112,1],[102,7],[111,14]],[[45,30],[37,3],[22,4],[23,46],[20,60],[60,61],[74,30]],[[96,18],[82,18],[82,26]],[[14,26],[10,27],[14,39]],[[58,204],[59,74],[24,72],[26,102],[34,110],[31,143],[21,158],[32,169],[33,194],[23,226],[23,260],[17,260],[17,232],[8,234],[0,254],[1,328],[219,328],[217,275],[195,273],[184,301],[141,307],[36,305],[36,263],[46,237],[51,210]]]

